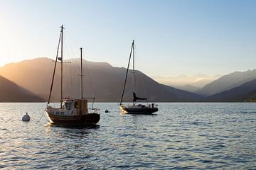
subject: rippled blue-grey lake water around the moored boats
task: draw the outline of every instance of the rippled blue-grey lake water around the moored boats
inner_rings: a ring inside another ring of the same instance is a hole
[[[0,169],[256,169],[256,103],[95,107],[97,128],[72,128],[48,125],[46,103],[0,103]]]

